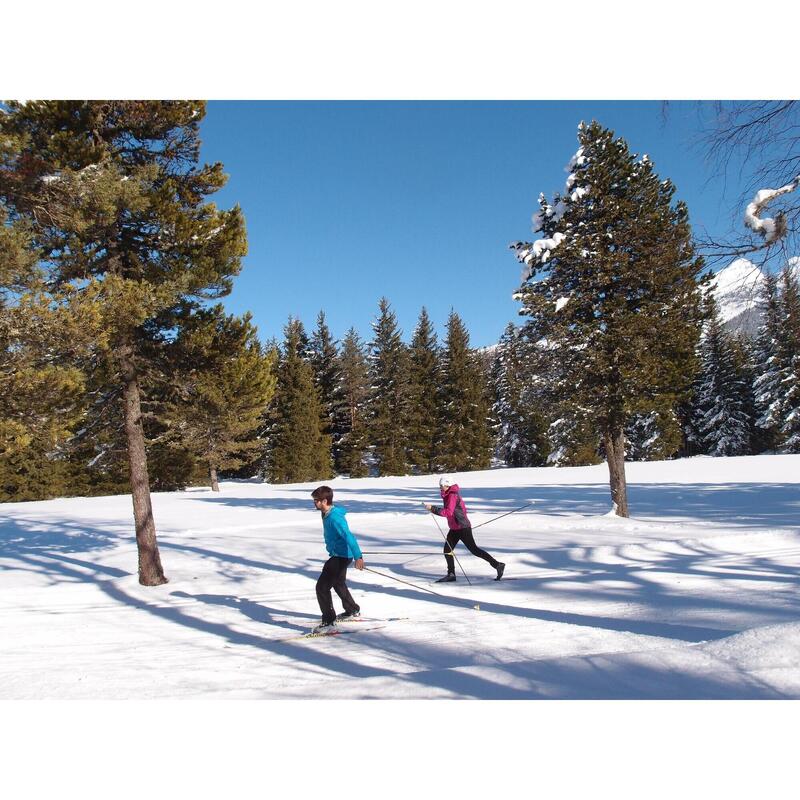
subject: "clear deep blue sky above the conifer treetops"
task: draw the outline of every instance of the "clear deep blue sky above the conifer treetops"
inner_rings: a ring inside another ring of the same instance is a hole
[[[289,315],[310,333],[320,309],[337,339],[368,340],[385,296],[406,341],[425,305],[440,336],[453,308],[473,346],[493,344],[520,320],[508,244],[536,238],[537,197],[563,189],[592,119],[650,156],[693,225],[731,228],[735,187],[723,198],[693,144],[696,103],[210,102],[201,158],[224,164],[213,199],[241,205],[249,240],[227,310],[251,311],[262,341]]]

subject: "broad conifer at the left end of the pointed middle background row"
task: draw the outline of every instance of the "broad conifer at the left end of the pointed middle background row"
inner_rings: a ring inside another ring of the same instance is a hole
[[[306,360],[303,324],[289,319],[272,401],[267,474],[272,483],[326,480],[331,469],[331,441],[322,432],[322,404],[314,370]]]

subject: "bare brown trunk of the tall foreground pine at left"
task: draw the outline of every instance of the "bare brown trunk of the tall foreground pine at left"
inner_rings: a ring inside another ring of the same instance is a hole
[[[156,540],[153,506],[150,502],[150,480],[147,473],[147,453],[144,448],[142,406],[139,380],[133,363],[133,348],[129,344],[117,350],[123,380],[125,435],[128,440],[133,519],[136,525],[136,547],[139,551],[139,583],[159,586],[166,583]]]

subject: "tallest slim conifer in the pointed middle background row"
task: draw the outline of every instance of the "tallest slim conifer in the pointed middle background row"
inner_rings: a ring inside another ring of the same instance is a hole
[[[379,475],[404,475],[408,415],[408,353],[397,317],[382,297],[380,315],[372,324],[369,375],[368,438]]]

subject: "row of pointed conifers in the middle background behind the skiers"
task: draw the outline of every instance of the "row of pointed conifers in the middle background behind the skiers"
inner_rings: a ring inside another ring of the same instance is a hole
[[[258,472],[285,483],[488,468],[490,365],[455,311],[446,330],[439,343],[422,308],[404,342],[387,298],[367,341],[354,328],[335,340],[324,311],[310,336],[290,318]]]

